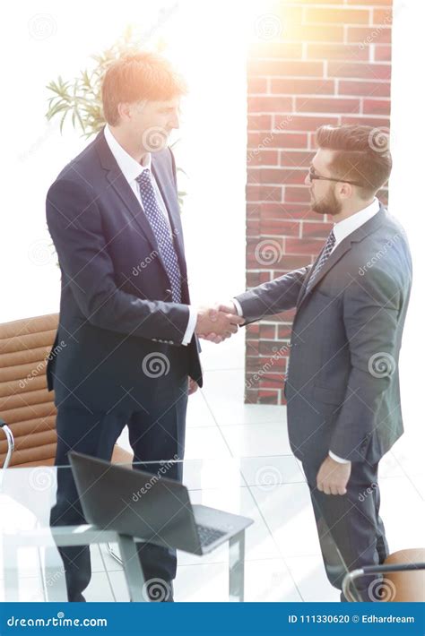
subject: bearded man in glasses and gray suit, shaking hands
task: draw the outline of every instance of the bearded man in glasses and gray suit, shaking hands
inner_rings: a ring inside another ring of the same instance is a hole
[[[403,433],[398,359],[412,261],[403,228],[376,198],[392,163],[376,133],[318,129],[306,184],[312,209],[334,221],[322,252],[221,305],[246,323],[296,307],[285,385],[291,449],[338,589],[346,569],[386,559],[378,462]],[[357,589],[361,600],[379,600],[382,583],[362,577]]]

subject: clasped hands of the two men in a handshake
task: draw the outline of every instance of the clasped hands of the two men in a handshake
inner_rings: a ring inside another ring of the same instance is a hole
[[[199,338],[218,344],[236,333],[239,325],[244,322],[245,318],[239,316],[231,301],[225,305],[201,307],[198,310],[195,333]]]

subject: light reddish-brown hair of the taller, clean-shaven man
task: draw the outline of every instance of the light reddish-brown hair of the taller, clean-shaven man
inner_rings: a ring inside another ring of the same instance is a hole
[[[168,101],[184,94],[185,81],[165,57],[148,51],[129,53],[113,62],[105,73],[103,115],[109,125],[117,125],[120,103]]]

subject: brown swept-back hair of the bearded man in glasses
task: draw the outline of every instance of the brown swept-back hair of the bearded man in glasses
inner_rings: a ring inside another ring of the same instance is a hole
[[[334,150],[329,168],[342,181],[361,184],[360,196],[369,199],[386,184],[392,159],[386,134],[367,125],[323,125],[317,129],[319,148]]]

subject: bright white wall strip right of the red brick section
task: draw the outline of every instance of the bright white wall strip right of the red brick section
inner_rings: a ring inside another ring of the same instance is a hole
[[[425,4],[421,0],[395,0],[394,7],[391,115],[394,169],[390,182],[390,211],[406,229],[414,268],[400,373],[406,430],[423,435]]]

